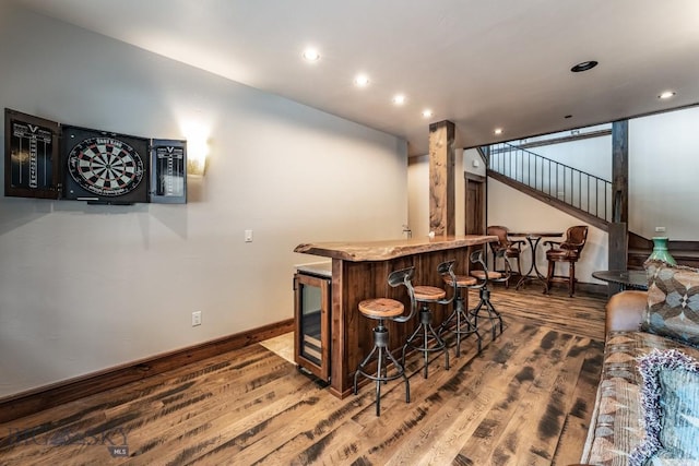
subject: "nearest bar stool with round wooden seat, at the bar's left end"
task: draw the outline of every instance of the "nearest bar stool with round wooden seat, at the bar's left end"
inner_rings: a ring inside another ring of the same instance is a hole
[[[376,415],[380,416],[381,413],[381,383],[386,383],[390,380],[403,378],[405,382],[405,403],[411,401],[411,385],[405,375],[405,368],[393,357],[389,345],[389,331],[384,325],[387,319],[393,322],[407,322],[415,315],[417,304],[415,301],[415,292],[411,280],[415,267],[401,268],[395,272],[391,272],[388,277],[390,286],[395,288],[396,286],[404,285],[407,288],[407,294],[411,298],[411,311],[407,315],[403,315],[404,306],[401,301],[390,298],[376,298],[366,299],[359,302],[359,312],[367,319],[377,320],[377,326],[374,327],[374,347],[369,355],[359,363],[357,371],[354,373],[354,394],[357,394],[357,378],[364,375],[365,378],[376,382]],[[376,357],[375,357],[376,355]],[[388,358],[388,361],[386,360]],[[376,375],[367,373],[365,371],[367,365],[370,361],[377,361]],[[388,362],[393,362],[395,372],[391,375],[388,374]]]

